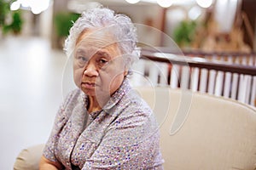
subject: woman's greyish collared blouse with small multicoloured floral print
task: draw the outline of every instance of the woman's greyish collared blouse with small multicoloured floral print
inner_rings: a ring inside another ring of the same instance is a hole
[[[88,113],[88,97],[67,95],[44,148],[65,169],[163,169],[154,114],[125,78],[102,111]]]

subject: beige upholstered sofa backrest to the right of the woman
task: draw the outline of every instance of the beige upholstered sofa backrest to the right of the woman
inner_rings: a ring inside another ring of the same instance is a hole
[[[256,169],[254,107],[180,89],[137,90],[160,123],[165,169]]]

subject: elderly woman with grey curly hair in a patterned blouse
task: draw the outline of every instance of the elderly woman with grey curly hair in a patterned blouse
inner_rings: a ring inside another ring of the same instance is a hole
[[[139,55],[131,20],[90,9],[74,23],[65,50],[78,89],[55,117],[40,169],[162,169],[154,114],[127,79]]]

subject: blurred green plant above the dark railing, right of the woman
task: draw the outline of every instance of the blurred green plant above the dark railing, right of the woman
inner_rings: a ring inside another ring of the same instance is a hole
[[[194,20],[183,20],[173,31],[174,41],[180,46],[187,46],[195,36],[196,22]]]

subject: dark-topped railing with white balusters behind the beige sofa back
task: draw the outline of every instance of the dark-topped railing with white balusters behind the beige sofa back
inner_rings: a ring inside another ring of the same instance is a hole
[[[143,50],[142,59],[134,70],[146,77],[147,81],[135,76],[133,82],[137,82],[137,85],[186,88],[256,105],[255,54],[245,55],[245,58],[239,54],[188,55],[191,54],[183,56]],[[231,59],[222,59],[222,56]],[[241,62],[236,62],[238,60]]]

